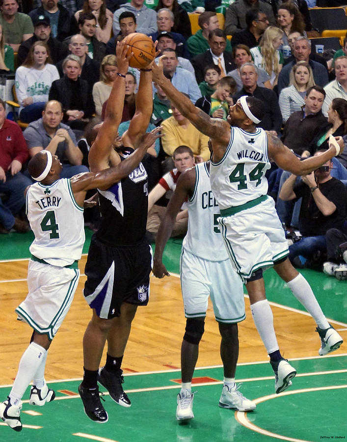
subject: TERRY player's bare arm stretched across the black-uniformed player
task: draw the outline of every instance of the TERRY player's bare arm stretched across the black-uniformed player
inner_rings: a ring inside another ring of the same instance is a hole
[[[99,172],[86,172],[75,175],[71,178],[71,188],[75,199],[80,206],[83,206],[85,193],[89,189],[107,190],[112,184],[118,183],[122,178],[128,176],[138,166],[144,157],[147,149],[160,138],[160,127],[144,134],[139,142],[138,148],[117,166],[107,167]]]

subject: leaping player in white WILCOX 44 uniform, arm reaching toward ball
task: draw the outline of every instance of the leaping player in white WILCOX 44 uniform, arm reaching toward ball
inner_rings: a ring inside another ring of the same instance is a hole
[[[264,116],[260,100],[241,97],[223,121],[211,118],[187,100],[164,77],[160,64],[153,63],[152,76],[177,109],[212,140],[211,187],[221,209],[222,236],[233,268],[246,283],[253,319],[275,373],[275,391],[280,393],[292,384],[296,371],[279,351],[263,269],[273,265],[313,316],[320,335],[320,356],[339,348],[343,339],[327,322],[310,285],[288,259],[283,228],[273,200],[267,197],[265,171],[273,161],[295,175],[310,173],[343,150],[342,139],[338,144],[331,142],[321,156],[300,161],[278,138],[256,127]]]

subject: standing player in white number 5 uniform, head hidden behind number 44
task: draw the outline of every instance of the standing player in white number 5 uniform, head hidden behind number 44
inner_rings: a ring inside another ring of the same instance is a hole
[[[231,266],[220,235],[217,223],[219,207],[211,190],[209,161],[197,164],[179,177],[160,223],[153,273],[159,278],[169,276],[162,263],[162,253],[176,216],[186,200],[188,231],[182,245],[180,275],[187,325],[181,347],[182,388],[177,395],[176,418],[183,420],[194,417],[191,380],[198,359],[199,342],[204,333],[209,296],[222,338],[220,356],[224,385],[219,406],[241,412],[252,411],[256,405],[242,396],[235,384],[239,356],[238,322],[246,317],[243,287]]]

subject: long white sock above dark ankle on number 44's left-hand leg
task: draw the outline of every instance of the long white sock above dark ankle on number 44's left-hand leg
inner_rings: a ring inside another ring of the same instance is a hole
[[[273,328],[273,315],[267,299],[251,304],[253,321],[258,333],[267,349],[267,354],[279,350],[275,330]]]

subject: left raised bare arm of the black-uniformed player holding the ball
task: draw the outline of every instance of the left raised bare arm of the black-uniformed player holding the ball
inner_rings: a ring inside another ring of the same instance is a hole
[[[109,158],[112,149],[112,142],[117,136],[118,126],[122,119],[122,112],[125,98],[125,74],[129,69],[129,59],[133,53],[126,55],[128,46],[124,41],[117,42],[116,55],[118,74],[114,79],[111,93],[107,101],[106,118],[100,127],[98,136],[92,144],[88,163],[90,170],[98,172],[109,166]],[[121,77],[124,76],[124,77]]]

